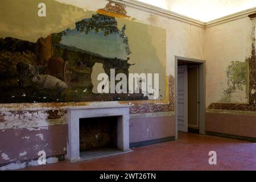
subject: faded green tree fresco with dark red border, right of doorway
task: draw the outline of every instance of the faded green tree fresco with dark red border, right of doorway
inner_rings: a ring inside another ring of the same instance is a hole
[[[240,92],[243,90],[243,94],[241,95],[245,96],[245,101],[243,101],[244,103],[218,102],[210,104],[208,109],[255,111],[255,56],[255,44],[252,44],[251,56],[247,57],[245,62],[233,61],[230,63],[228,67],[229,69],[227,69],[226,72],[229,88],[224,90],[222,98],[234,100],[234,98],[236,98],[236,94],[234,94],[237,92],[236,90],[240,90]],[[248,75],[246,73],[247,67]],[[248,84],[248,86],[246,86],[246,84]],[[248,94],[247,97],[246,94]],[[241,96],[238,98],[241,98]],[[247,103],[245,103],[246,101]]]

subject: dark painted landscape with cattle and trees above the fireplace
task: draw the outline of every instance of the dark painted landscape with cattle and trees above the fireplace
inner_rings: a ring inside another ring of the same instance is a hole
[[[108,75],[111,68],[129,74],[125,31],[115,18],[95,14],[37,42],[0,38],[0,103],[147,100],[143,94],[92,92],[96,63]]]

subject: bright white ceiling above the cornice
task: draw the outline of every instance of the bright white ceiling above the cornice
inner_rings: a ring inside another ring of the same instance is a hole
[[[256,0],[137,0],[189,18],[210,22],[256,7]]]

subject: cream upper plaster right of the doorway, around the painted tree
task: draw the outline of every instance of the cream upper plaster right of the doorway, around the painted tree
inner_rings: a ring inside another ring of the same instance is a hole
[[[251,45],[254,44],[253,27],[253,20],[245,17],[206,28],[207,107],[214,102],[220,102],[227,88],[226,71],[230,63],[232,61],[245,62],[246,58],[251,57]],[[246,90],[243,90],[241,94],[246,95]],[[238,103],[247,102],[247,99],[243,99]]]

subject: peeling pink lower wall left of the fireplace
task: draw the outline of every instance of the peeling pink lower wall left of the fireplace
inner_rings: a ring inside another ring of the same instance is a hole
[[[0,164],[37,159],[42,150],[47,156],[63,155],[67,136],[67,125],[0,130]]]

